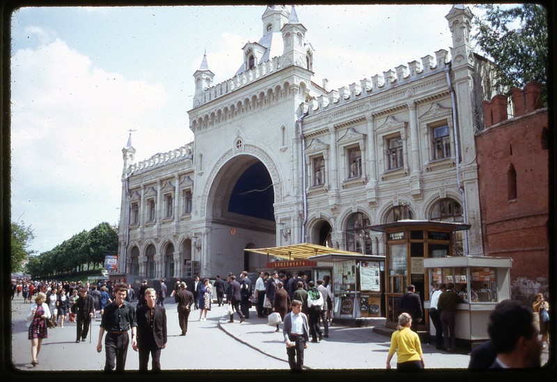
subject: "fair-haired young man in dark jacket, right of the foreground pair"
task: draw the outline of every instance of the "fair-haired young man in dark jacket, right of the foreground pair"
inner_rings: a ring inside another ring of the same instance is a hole
[[[134,350],[139,350],[139,372],[147,372],[149,353],[151,354],[151,369],[153,372],[161,370],[161,350],[166,347],[166,309],[157,305],[155,289],[145,291],[146,305],[136,310],[137,342]]]

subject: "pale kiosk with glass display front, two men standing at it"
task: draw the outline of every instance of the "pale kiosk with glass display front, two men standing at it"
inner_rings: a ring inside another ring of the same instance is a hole
[[[457,305],[455,336],[458,339],[487,340],[489,314],[499,301],[510,299],[510,267],[508,257],[462,256],[424,259],[430,282],[430,295],[443,282],[454,282],[466,303]],[[430,301],[424,301],[430,308]],[[430,334],[434,334],[430,326]]]

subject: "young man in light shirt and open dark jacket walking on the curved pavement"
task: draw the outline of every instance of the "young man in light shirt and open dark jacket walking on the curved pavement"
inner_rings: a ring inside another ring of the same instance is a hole
[[[301,372],[304,366],[304,349],[308,347],[308,317],[301,312],[301,301],[292,300],[292,312],[284,317],[283,335],[292,372]]]

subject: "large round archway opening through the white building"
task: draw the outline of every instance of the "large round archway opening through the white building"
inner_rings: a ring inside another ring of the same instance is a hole
[[[220,168],[207,198],[207,273],[237,275],[265,266],[265,256],[244,250],[276,244],[274,190],[265,164],[252,155]]]

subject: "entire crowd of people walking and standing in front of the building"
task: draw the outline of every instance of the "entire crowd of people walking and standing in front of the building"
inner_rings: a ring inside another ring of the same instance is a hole
[[[230,272],[226,283],[217,276],[214,285],[208,278],[201,281],[196,276],[192,292],[187,290],[186,282],[178,279],[170,296],[177,304],[180,335],[187,335],[191,310],[199,310],[199,321],[206,320],[212,306],[213,289],[219,306],[224,305],[223,298],[226,296],[230,323],[234,322],[235,314],[240,323],[249,319],[252,304],[258,317],[272,315],[277,332],[283,324],[290,369],[300,372],[308,342],[320,342],[323,337],[329,336],[333,305],[329,281],[329,276],[325,276],[315,283],[302,272],[292,277],[276,271],[270,274],[260,272],[252,287],[246,271],[240,274],[240,281]],[[430,299],[430,319],[436,332],[437,349],[451,353],[455,352],[455,305],[463,303],[453,292],[453,287],[451,282],[439,284]],[[77,323],[75,342],[85,342],[91,319],[100,315],[97,351],[102,351],[102,338],[106,333],[106,372],[113,369],[122,372],[125,369],[130,331],[132,349],[139,351],[140,371],[147,371],[149,357],[152,359],[152,370],[159,371],[160,353],[167,340],[166,310],[164,298],[161,298],[167,296],[164,279],[160,280],[157,290],[143,280],[134,306],[132,299],[135,295],[132,285],[112,285],[110,281],[95,285],[81,281],[12,280],[12,298],[22,296],[24,303],[29,303],[27,326],[31,340],[31,365],[39,363],[40,347],[42,340],[48,337],[49,328],[64,328],[65,321],[74,321]],[[424,315],[414,285],[409,285],[402,295],[400,308],[402,314],[398,317],[397,330],[391,336],[386,368],[391,368],[391,359],[396,353],[397,369],[423,369],[425,361],[416,324],[422,321]],[[501,301],[489,317],[489,340],[471,352],[469,368],[540,367],[540,353],[549,345],[548,321],[549,303],[542,294],[535,296],[531,307],[517,301]]]

